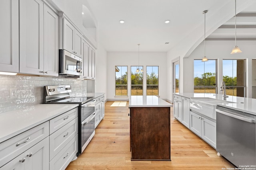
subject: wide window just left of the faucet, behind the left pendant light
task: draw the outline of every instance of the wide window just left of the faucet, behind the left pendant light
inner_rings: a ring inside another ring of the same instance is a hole
[[[217,93],[216,60],[194,60],[194,93]]]

